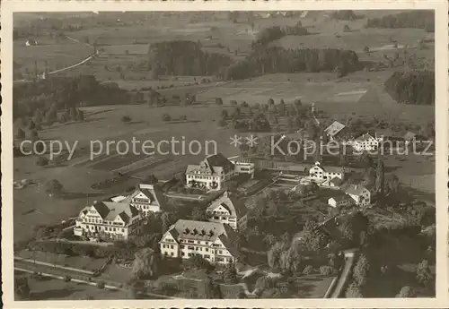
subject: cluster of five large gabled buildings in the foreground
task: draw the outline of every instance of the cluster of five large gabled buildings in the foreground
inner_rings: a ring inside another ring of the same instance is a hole
[[[189,165],[186,180],[189,187],[218,191],[239,174],[254,176],[254,165],[232,162],[216,154],[198,166]],[[120,195],[84,207],[75,219],[74,234],[89,239],[128,240],[140,235],[145,217],[165,207],[165,196],[159,186],[140,184],[128,196]],[[246,227],[247,212],[241,200],[224,191],[207,205],[207,221],[180,219],[169,227],[160,242],[161,253],[183,259],[199,254],[209,262],[233,262],[238,256],[236,230]]]

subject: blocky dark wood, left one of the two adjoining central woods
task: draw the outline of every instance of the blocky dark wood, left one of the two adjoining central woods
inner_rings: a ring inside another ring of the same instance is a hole
[[[229,56],[207,53],[201,45],[188,40],[152,44],[148,49],[148,69],[154,79],[159,75],[215,75],[220,68],[232,64]]]

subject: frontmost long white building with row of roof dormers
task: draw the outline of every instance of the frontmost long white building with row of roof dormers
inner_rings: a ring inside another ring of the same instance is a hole
[[[237,234],[227,224],[180,219],[159,242],[161,253],[169,257],[189,259],[200,255],[211,263],[230,263],[238,258]]]

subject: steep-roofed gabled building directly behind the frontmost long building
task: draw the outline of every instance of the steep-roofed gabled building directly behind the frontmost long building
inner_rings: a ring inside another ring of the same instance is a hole
[[[225,191],[210,203],[206,215],[211,222],[229,224],[233,229],[242,229],[246,227],[247,212],[248,209],[242,201]]]

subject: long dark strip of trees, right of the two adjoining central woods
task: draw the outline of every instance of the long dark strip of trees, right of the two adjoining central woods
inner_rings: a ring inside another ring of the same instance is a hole
[[[357,71],[359,62],[352,50],[342,49],[259,49],[244,60],[222,70],[225,80],[242,80],[268,73],[337,72],[339,76]]]

